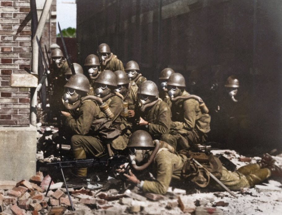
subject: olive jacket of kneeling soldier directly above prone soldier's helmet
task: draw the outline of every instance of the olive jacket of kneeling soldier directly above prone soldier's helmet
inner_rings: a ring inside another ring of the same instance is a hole
[[[171,112],[169,106],[164,101],[159,99],[155,105],[148,107],[144,112],[136,111],[139,111],[140,116],[149,123],[146,126],[136,125],[136,130],[147,131],[153,139],[160,139],[162,134],[169,133],[172,124]]]

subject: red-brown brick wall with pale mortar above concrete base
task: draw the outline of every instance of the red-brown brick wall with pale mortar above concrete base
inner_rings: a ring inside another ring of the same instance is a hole
[[[0,126],[28,126],[30,88],[10,87],[31,63],[29,0],[0,0]]]

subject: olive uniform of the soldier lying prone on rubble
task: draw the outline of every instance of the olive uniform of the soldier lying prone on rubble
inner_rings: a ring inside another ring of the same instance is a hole
[[[213,180],[209,180],[209,176],[206,174],[199,177],[199,171],[187,172],[185,170],[186,162],[187,157],[185,155],[173,153],[166,148],[161,148],[149,167],[149,171],[153,174],[155,180],[141,181],[138,186],[144,192],[165,194],[172,179],[183,179],[191,180],[197,185],[200,185],[200,187],[209,185],[215,189],[223,189]],[[196,164],[192,163],[191,165],[194,166],[194,169],[198,169]],[[188,178],[186,177],[186,174],[191,174],[192,176]],[[269,169],[260,169],[258,164],[250,164],[239,168],[237,172],[228,171],[223,167],[219,180],[231,190],[240,190],[241,187],[253,187],[255,184],[269,178],[270,175],[271,173]]]

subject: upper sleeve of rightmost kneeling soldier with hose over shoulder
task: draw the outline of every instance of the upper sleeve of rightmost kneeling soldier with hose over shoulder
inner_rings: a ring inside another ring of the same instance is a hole
[[[184,128],[189,130],[195,127],[196,103],[194,99],[187,99],[183,102]]]

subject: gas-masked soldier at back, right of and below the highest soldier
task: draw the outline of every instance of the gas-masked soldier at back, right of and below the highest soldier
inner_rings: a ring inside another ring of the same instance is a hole
[[[136,84],[137,87],[140,87],[141,83],[147,80],[139,73],[139,65],[134,60],[127,62],[124,70],[133,86]]]

